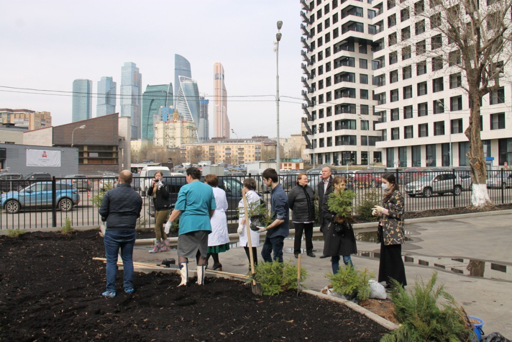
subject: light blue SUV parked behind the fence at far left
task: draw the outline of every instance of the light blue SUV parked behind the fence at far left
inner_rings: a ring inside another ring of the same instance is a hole
[[[55,184],[56,204],[61,211],[70,211],[80,203],[78,190],[66,181]],[[9,214],[16,214],[24,208],[42,208],[52,206],[52,183],[36,182],[20,191],[2,194],[0,206]]]

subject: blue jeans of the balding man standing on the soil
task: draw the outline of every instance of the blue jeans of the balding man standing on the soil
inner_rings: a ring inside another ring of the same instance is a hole
[[[117,255],[121,249],[124,269],[124,290],[133,288],[133,246],[135,230],[105,231],[103,243],[106,255],[106,290],[116,291]]]

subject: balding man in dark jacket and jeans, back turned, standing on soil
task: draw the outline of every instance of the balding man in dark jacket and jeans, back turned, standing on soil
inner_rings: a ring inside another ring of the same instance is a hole
[[[121,249],[124,269],[124,292],[133,293],[133,247],[137,218],[142,210],[142,198],[132,189],[132,172],[122,170],[119,186],[109,190],[101,201],[99,214],[105,223],[106,291],[104,297],[116,296],[117,255]]]

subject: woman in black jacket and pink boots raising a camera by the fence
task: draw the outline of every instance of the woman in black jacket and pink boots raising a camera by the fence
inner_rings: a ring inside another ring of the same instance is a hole
[[[167,252],[169,248],[169,240],[164,231],[164,223],[169,217],[169,192],[167,185],[162,182],[163,173],[158,170],[155,172],[155,178],[151,183],[151,187],[147,189],[147,195],[153,197],[155,206],[155,235],[156,240],[150,253]]]

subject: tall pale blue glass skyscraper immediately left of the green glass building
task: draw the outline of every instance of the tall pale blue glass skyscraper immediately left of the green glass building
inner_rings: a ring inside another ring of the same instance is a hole
[[[141,138],[142,74],[132,62],[121,67],[121,116],[131,117],[132,138]]]

